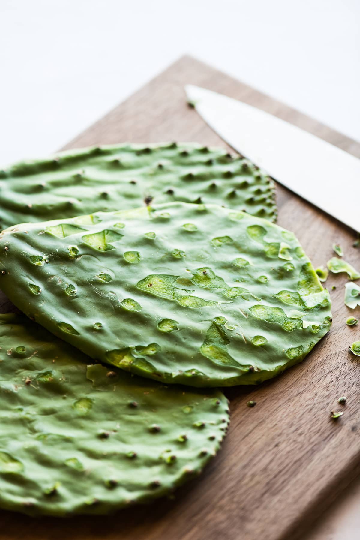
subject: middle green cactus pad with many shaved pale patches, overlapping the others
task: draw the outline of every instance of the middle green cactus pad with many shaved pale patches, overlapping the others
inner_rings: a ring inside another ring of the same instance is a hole
[[[329,330],[329,293],[293,233],[168,203],[11,227],[0,288],[93,359],[166,383],[253,384]]]

